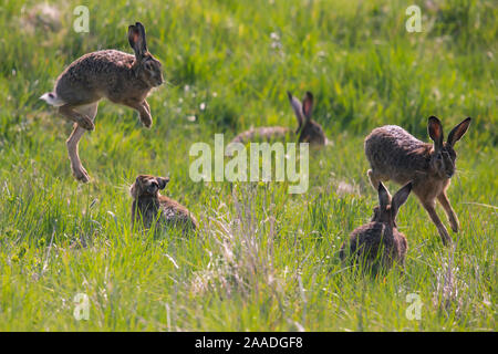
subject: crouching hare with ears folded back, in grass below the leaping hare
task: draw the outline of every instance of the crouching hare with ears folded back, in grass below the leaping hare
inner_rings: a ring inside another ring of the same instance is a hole
[[[148,229],[157,219],[157,226],[181,227],[184,230],[198,228],[196,218],[187,208],[159,194],[168,181],[167,177],[149,175],[136,177],[135,183],[129,187],[129,194],[133,197],[132,225],[142,220],[144,227]]]

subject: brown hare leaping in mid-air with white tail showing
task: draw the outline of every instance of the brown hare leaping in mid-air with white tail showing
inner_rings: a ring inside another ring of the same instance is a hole
[[[77,144],[85,131],[95,128],[93,121],[101,98],[106,97],[113,103],[136,110],[146,127],[153,123],[145,98],[153,87],[163,83],[162,65],[147,50],[142,23],[128,27],[128,42],[135,55],[116,50],[85,54],[62,72],[53,92],[40,97],[59,107],[66,119],[75,122],[66,145],[71,168],[77,180],[90,180],[81,164]]]

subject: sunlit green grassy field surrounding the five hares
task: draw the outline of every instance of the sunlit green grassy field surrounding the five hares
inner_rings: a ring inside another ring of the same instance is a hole
[[[1,0],[0,331],[495,331],[498,7],[415,1],[423,32],[408,33],[412,3],[101,0],[89,4],[90,32],[76,33],[79,1]],[[80,144],[92,181],[79,184],[65,149],[72,126],[38,97],[86,52],[132,53],[135,21],[167,80],[148,100],[154,125],[102,102]],[[295,126],[287,90],[313,92],[332,142],[310,152],[307,194],[190,180],[191,144]],[[377,204],[364,136],[398,124],[428,142],[429,115],[446,134],[474,118],[448,191],[456,247],[443,246],[412,196],[397,220],[405,275],[360,277],[338,252]],[[138,174],[169,176],[164,194],[200,230],[132,229]],[[90,299],[87,321],[73,316],[77,293]],[[406,316],[408,294],[422,301],[419,320]]]

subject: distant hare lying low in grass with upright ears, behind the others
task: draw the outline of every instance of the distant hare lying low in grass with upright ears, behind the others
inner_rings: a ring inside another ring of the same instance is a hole
[[[290,92],[287,93],[291,106],[298,118],[298,129],[293,132],[284,126],[263,126],[251,128],[237,135],[231,143],[246,144],[256,139],[279,140],[286,137],[297,137],[299,143],[310,143],[311,145],[325,145],[326,137],[320,124],[311,119],[313,110],[313,95],[307,92],[302,104],[298,98],[292,96]]]

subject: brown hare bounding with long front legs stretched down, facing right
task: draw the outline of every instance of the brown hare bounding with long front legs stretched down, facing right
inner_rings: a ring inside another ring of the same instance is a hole
[[[413,191],[436,225],[444,244],[452,238],[436,214],[436,199],[448,216],[452,229],[458,232],[458,218],[449,204],[446,189],[455,174],[456,152],[454,146],[470,125],[468,117],[458,124],[444,142],[443,125],[435,116],[428,118],[427,129],[433,144],[418,140],[405,129],[386,125],[372,131],[365,138],[365,155],[372,169],[369,177],[377,188],[381,180],[397,184],[413,181]]]

